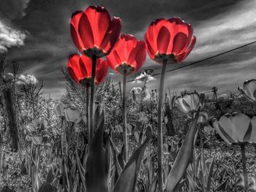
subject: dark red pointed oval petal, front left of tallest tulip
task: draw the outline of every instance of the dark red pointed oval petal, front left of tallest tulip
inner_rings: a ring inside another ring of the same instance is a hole
[[[94,34],[91,30],[91,23],[89,22],[89,18],[87,18],[85,13],[83,13],[80,18],[78,33],[80,34],[80,38],[86,49],[94,47]]]

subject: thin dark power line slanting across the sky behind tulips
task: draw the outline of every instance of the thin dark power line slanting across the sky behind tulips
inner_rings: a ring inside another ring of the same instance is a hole
[[[211,58],[216,58],[216,57],[219,57],[220,55],[225,55],[226,53],[230,53],[230,52],[232,52],[232,51],[234,51],[234,50],[238,50],[238,49],[241,49],[241,48],[243,48],[243,47],[246,47],[246,46],[248,46],[248,45],[252,45],[252,44],[255,44],[255,43],[256,43],[256,41],[249,42],[249,43],[247,43],[247,44],[245,44],[245,45],[241,45],[241,46],[236,47],[236,48],[233,48],[233,49],[231,49],[231,50],[227,50],[227,51],[225,51],[225,52],[218,53],[217,55],[213,55],[213,56],[211,56],[211,57],[204,58],[204,59],[199,60],[199,61],[195,61],[195,62],[193,62],[193,63],[191,63],[191,64],[187,64],[187,65],[184,65],[184,66],[177,67],[177,68],[175,68],[175,69],[167,70],[165,73],[167,73],[167,72],[173,72],[173,71],[176,71],[176,70],[178,70],[178,69],[182,69],[182,68],[187,67],[187,66],[192,66],[192,65],[201,63],[201,62],[203,62],[203,61],[207,61],[207,60],[209,60],[209,59],[211,59]],[[159,75],[159,74],[161,74],[161,73],[152,74],[151,77],[157,76],[157,75]],[[134,80],[128,80],[127,82],[133,82],[133,81],[136,81],[136,80],[143,80],[143,79],[145,79],[145,77],[141,77],[141,78],[139,78],[139,79],[134,79]],[[118,85],[118,84],[116,84],[116,85]],[[116,86],[116,85],[114,85],[114,86]]]

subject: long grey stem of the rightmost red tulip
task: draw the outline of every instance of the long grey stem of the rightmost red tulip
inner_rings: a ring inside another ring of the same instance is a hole
[[[158,96],[158,110],[157,110],[157,155],[158,155],[158,190],[163,191],[163,177],[162,177],[162,99],[165,83],[165,68],[167,60],[162,62],[162,72],[159,85],[159,96]]]

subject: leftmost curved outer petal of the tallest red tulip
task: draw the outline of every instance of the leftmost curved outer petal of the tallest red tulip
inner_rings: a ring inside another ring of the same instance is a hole
[[[83,12],[81,11],[74,12],[70,20],[70,34],[73,42],[75,43],[75,46],[78,47],[78,50],[83,50],[84,48],[83,42],[80,39],[80,35],[78,33],[78,24],[82,15]]]

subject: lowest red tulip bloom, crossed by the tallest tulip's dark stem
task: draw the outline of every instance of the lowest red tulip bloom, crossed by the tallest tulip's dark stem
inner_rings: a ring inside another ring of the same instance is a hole
[[[86,57],[85,55],[79,56],[78,54],[73,54],[69,56],[67,69],[68,69],[69,75],[78,84],[86,87],[90,86],[91,67],[92,67],[91,58]],[[101,58],[97,58],[95,84],[99,85],[105,79],[107,73],[108,73],[107,61],[102,61]]]

